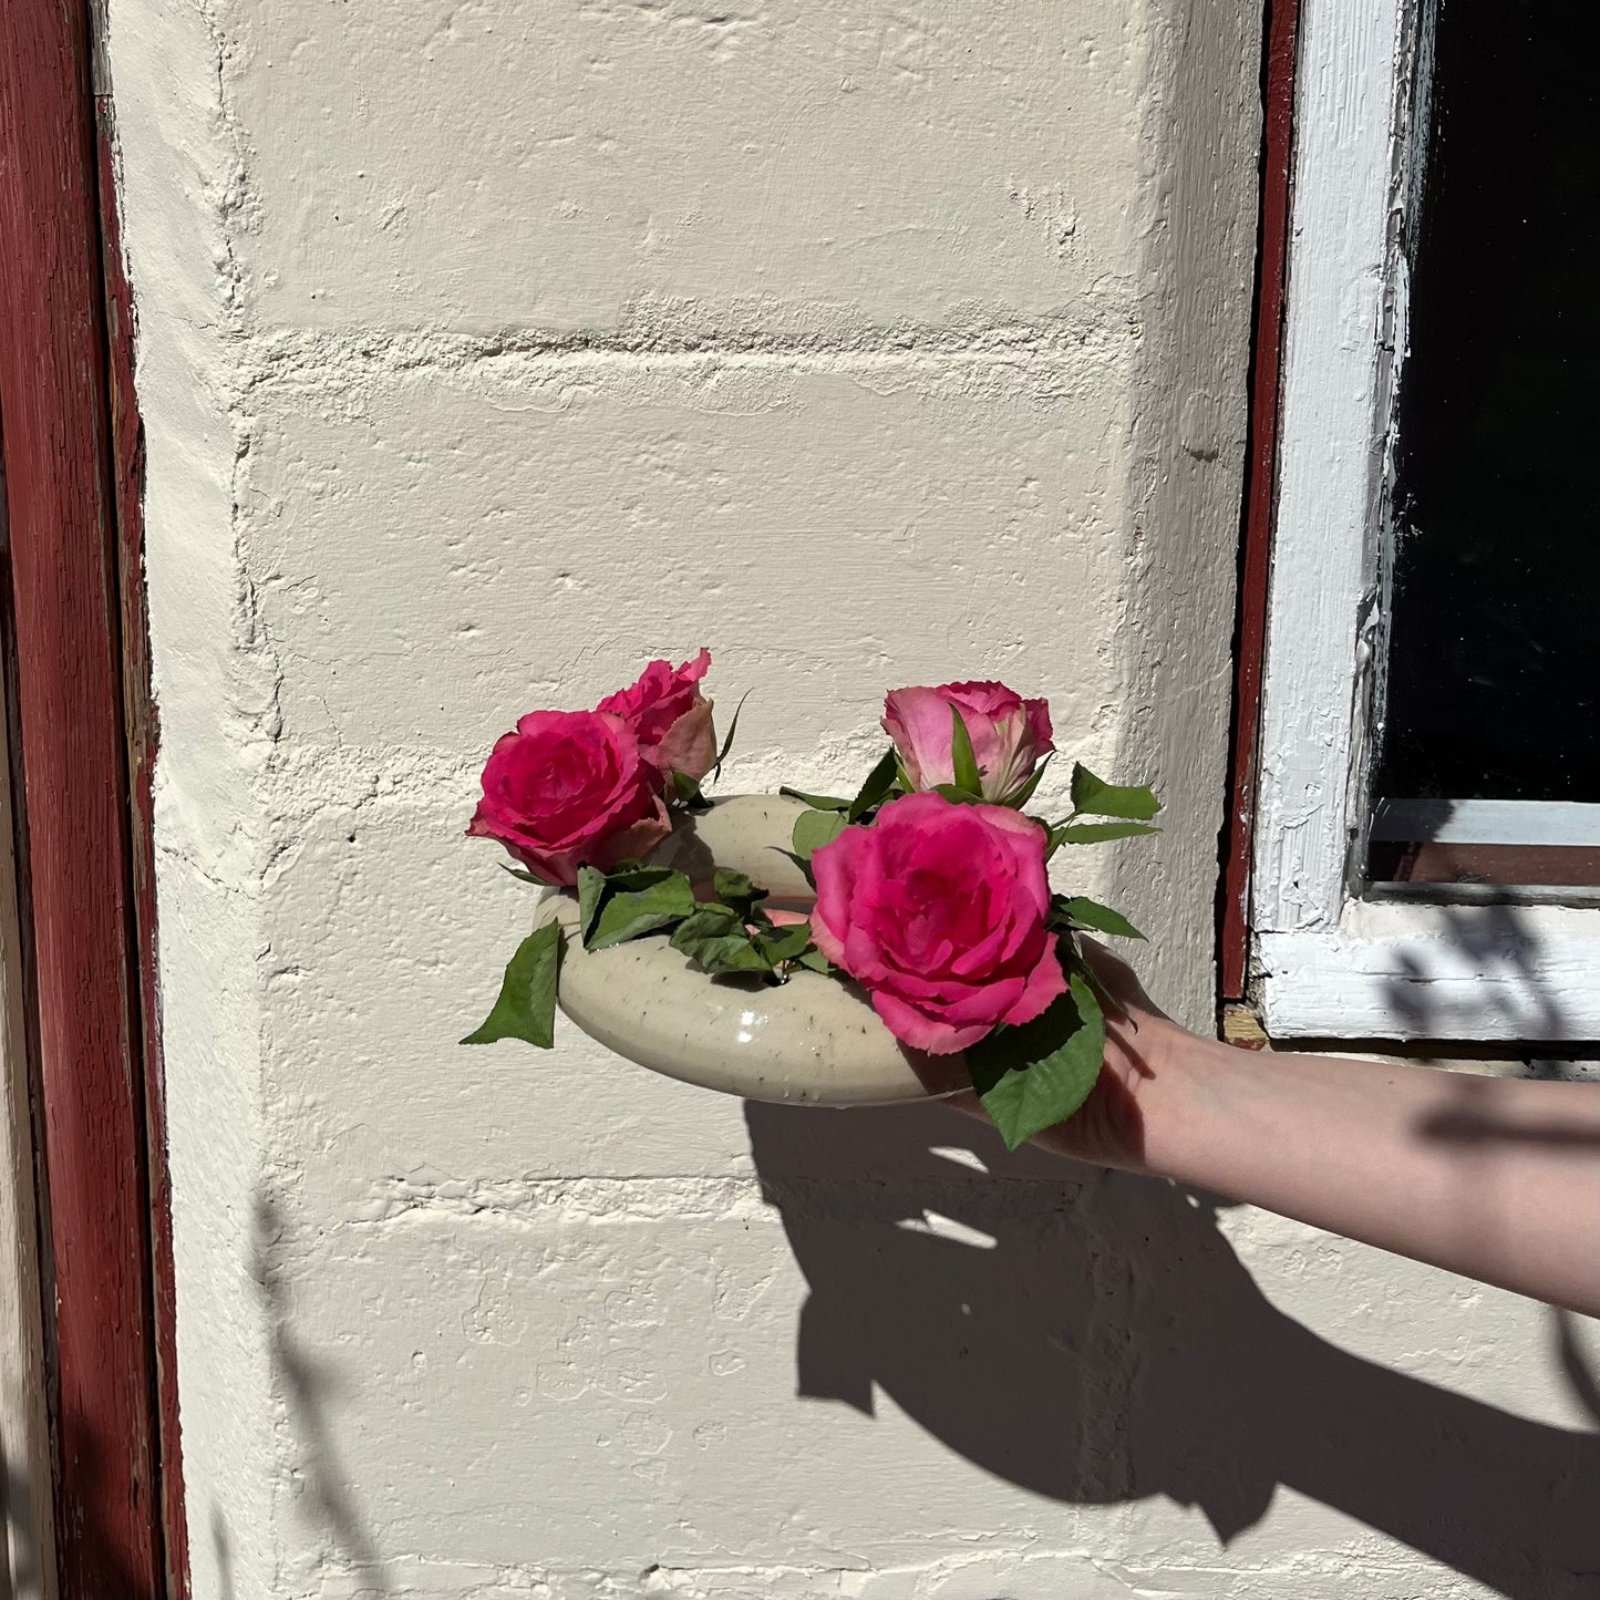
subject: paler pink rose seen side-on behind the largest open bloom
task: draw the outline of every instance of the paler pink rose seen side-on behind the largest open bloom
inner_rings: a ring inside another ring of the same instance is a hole
[[[1003,683],[894,690],[883,701],[883,731],[894,741],[914,789],[955,782],[952,706],[973,741],[984,798],[1005,805],[1056,747],[1050,706],[1042,699],[1026,701]]]

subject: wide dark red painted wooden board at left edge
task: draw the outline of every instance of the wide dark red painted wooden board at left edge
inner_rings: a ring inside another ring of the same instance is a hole
[[[114,427],[86,0],[0,5],[0,438],[64,1597],[165,1592]]]

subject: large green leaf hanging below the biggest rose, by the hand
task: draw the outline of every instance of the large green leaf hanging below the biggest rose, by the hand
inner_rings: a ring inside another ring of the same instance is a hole
[[[1082,974],[1043,1016],[1002,1024],[966,1051],[973,1088],[1006,1149],[1066,1122],[1088,1099],[1106,1056],[1106,1018]]]

